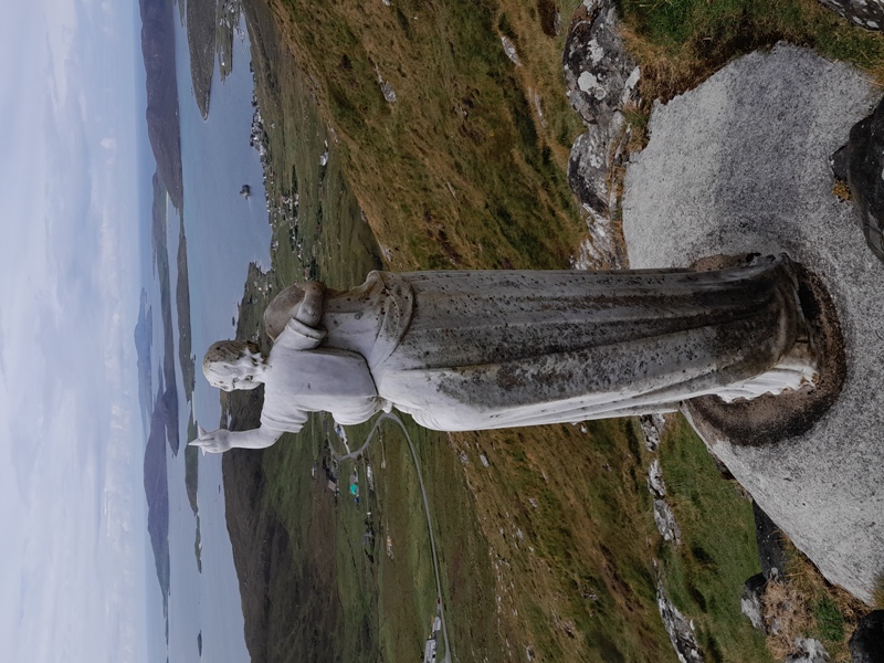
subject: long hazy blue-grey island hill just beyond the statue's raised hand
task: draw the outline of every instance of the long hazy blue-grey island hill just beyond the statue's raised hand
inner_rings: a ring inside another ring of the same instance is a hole
[[[169,587],[171,567],[169,561],[169,478],[166,470],[166,429],[168,425],[168,391],[164,391],[162,376],[159,378],[156,407],[150,418],[150,434],[145,448],[145,496],[147,497],[147,532],[154,550],[157,580],[162,591],[162,613],[166,617],[167,641],[169,622]]]

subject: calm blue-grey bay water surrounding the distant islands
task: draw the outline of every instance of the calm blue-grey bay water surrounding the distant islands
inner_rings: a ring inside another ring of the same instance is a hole
[[[176,21],[177,22],[177,21]],[[244,23],[241,23],[244,31]],[[264,203],[262,169],[257,152],[249,145],[252,122],[252,75],[249,40],[235,39],[233,73],[222,83],[215,69],[209,119],[203,120],[191,90],[187,33],[176,28],[176,66],[181,119],[181,155],[185,185],[185,232],[190,280],[192,352],[198,375],[193,393],[194,415],[207,429],[218,428],[218,391],[199,371],[206,348],[221,338],[233,338],[232,318],[242,298],[250,262],[270,267],[271,229]],[[249,183],[252,197],[239,192]],[[168,245],[172,298],[178,278],[178,213],[169,207]],[[155,284],[156,285],[156,284]],[[159,312],[158,287],[154,308]],[[178,312],[172,317],[178,341]],[[155,315],[155,365],[162,343]],[[160,332],[161,333],[161,332]],[[177,364],[177,356],[176,356]],[[155,367],[155,371],[158,367]],[[156,378],[155,372],[155,379]],[[200,457],[199,525],[202,572],[197,566],[197,518],[185,486],[183,444],[190,404],[178,371],[181,451],[168,455],[169,548],[171,587],[169,598],[169,649],[171,663],[197,661],[197,636],[202,633],[206,661],[248,661],[239,583],[224,520],[220,456]],[[156,382],[155,382],[156,383]],[[161,607],[160,618],[161,618]],[[162,633],[158,634],[162,638]],[[165,643],[162,644],[165,649]]]

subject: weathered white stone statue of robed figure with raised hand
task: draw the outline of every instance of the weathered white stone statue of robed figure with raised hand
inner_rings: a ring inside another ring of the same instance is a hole
[[[203,372],[264,385],[261,427],[206,451],[261,449],[308,412],[354,424],[396,408],[463,431],[671,412],[812,382],[815,358],[785,256],[711,272],[371,272],[348,292],[293,285],[264,314],[274,345],[220,341]]]

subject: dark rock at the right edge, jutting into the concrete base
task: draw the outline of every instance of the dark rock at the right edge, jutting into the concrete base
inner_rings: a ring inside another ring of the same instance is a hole
[[[853,125],[848,144],[832,157],[832,170],[850,186],[865,241],[884,261],[884,103]]]

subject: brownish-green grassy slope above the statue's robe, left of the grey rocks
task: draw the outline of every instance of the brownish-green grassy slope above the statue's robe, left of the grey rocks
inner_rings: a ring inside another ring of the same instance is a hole
[[[566,177],[582,128],[564,94],[562,38],[543,33],[534,8],[272,4],[390,266],[567,267],[585,232]]]

